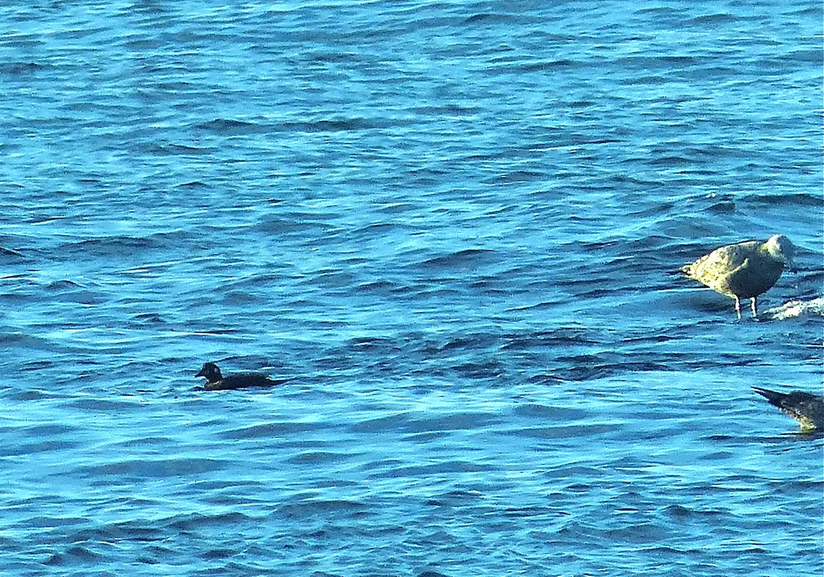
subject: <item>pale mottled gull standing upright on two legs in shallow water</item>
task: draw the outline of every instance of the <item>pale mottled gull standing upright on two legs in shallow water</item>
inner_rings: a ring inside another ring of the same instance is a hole
[[[757,317],[756,297],[778,282],[784,267],[793,266],[794,253],[786,236],[775,235],[763,243],[747,240],[722,246],[682,267],[681,272],[734,299],[741,320],[741,299],[751,299],[752,316]]]

